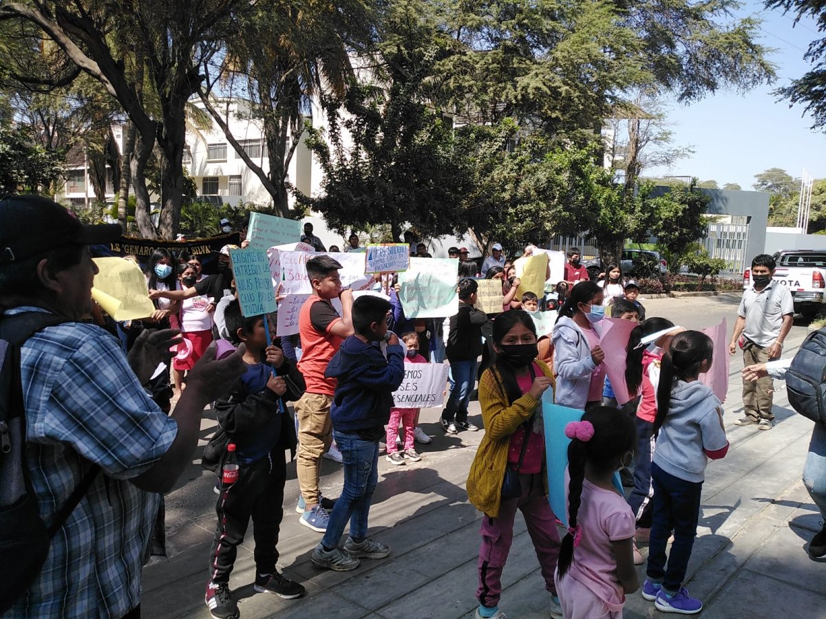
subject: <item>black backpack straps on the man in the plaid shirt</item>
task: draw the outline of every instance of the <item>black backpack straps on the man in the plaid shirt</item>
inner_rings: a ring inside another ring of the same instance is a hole
[[[26,432],[26,405],[25,400],[23,399],[23,384],[20,369],[21,345],[26,342],[28,338],[31,338],[32,335],[40,331],[40,329],[65,322],[68,321],[55,314],[47,314],[45,312],[22,312],[21,314],[14,314],[11,316],[3,315],[2,319],[0,319],[0,338],[7,340],[7,342],[14,347],[12,349],[12,359],[10,359],[10,361],[12,361],[11,370],[13,372],[11,394],[12,406],[10,407],[10,410],[17,408],[17,410],[20,411],[21,431],[24,435]],[[22,458],[23,479],[26,483],[26,490],[31,493],[32,496],[36,496],[34,488],[31,484],[29,467],[26,465],[25,461],[25,446],[23,446],[22,449]],[[66,503],[58,509],[55,514],[55,520],[51,523],[48,529],[50,538],[55,536],[55,533],[59,531],[60,527],[63,527],[64,522],[66,522],[69,515],[74,512],[74,508],[78,507],[80,499],[83,499],[83,495],[87,493],[89,486],[92,485],[100,470],[101,467],[99,465],[91,465],[89,470],[86,471],[86,474],[83,475],[83,479],[80,480],[80,483],[75,486],[74,490],[72,490],[72,494],[69,494],[69,499],[66,499]]]

